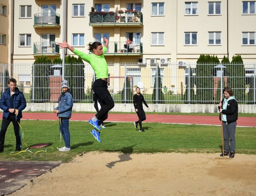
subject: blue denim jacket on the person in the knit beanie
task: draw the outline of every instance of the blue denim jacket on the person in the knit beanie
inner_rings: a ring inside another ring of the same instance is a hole
[[[70,118],[73,107],[73,97],[70,94],[69,90],[64,95],[62,94],[63,93],[61,93],[59,96],[59,105],[55,109],[59,110],[59,118]]]

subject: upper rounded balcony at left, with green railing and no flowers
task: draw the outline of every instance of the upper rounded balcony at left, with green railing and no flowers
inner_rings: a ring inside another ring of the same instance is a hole
[[[34,28],[59,28],[60,15],[56,13],[40,13],[34,15]]]

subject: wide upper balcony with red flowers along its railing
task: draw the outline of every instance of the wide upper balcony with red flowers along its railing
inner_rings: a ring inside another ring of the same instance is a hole
[[[90,26],[143,26],[143,14],[132,12],[90,12]]]

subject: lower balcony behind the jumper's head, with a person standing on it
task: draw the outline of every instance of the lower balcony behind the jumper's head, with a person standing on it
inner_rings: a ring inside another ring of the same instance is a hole
[[[93,43],[93,42],[90,42]],[[102,43],[103,44],[103,43]],[[143,44],[139,41],[132,41],[131,44],[126,44],[125,41],[109,42],[108,50],[105,56],[141,56]],[[89,53],[92,53],[91,51]]]

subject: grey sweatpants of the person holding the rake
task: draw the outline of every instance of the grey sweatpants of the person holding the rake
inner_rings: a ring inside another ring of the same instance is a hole
[[[226,122],[222,123],[223,125],[223,138],[224,138],[224,148],[226,152],[235,152],[236,149],[236,122],[227,124]],[[229,145],[230,142],[230,145]]]

